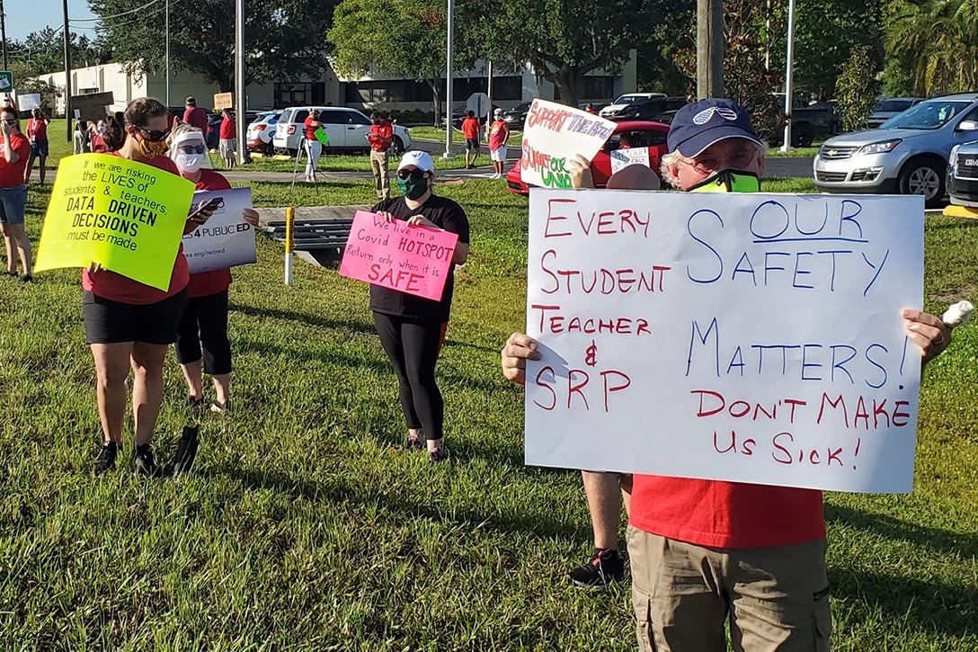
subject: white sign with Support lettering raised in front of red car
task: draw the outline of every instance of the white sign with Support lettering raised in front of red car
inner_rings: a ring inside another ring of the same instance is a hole
[[[615,123],[562,104],[534,100],[523,129],[519,160],[523,183],[543,188],[570,188],[570,161],[591,161]]]

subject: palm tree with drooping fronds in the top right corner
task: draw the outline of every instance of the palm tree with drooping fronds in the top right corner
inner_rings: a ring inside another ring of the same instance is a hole
[[[978,3],[894,0],[888,13],[888,55],[912,79],[916,94],[978,88]]]

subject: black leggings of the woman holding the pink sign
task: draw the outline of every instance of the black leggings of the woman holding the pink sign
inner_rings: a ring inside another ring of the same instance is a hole
[[[435,384],[434,366],[441,347],[442,325],[375,312],[374,326],[397,374],[408,428],[423,429],[426,439],[440,440],[445,403]]]

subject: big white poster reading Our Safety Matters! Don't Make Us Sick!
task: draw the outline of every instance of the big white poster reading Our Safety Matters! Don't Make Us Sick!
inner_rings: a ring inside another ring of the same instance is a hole
[[[529,464],[910,491],[919,197],[530,193]]]

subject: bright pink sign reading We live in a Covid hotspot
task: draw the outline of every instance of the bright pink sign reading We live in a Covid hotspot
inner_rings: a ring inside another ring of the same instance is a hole
[[[437,302],[458,242],[455,233],[357,210],[339,273]]]

